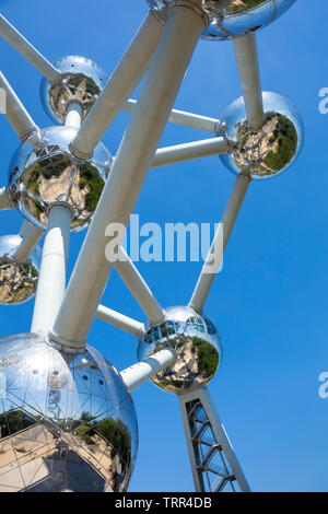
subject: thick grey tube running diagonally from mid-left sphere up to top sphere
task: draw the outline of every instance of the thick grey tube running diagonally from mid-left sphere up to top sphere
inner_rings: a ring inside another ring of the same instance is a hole
[[[162,32],[163,25],[150,11],[71,143],[71,151],[78,159],[92,156],[96,144],[147,72]]]

